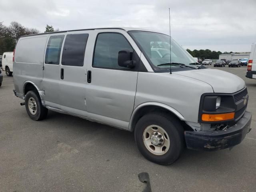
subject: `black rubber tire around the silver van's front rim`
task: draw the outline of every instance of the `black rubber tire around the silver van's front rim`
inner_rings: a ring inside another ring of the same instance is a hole
[[[171,141],[170,148],[163,155],[155,155],[151,153],[144,145],[143,132],[145,128],[150,125],[158,125],[162,127],[169,136]],[[165,113],[150,113],[142,116],[135,126],[134,136],[141,154],[146,159],[157,164],[172,164],[179,158],[184,149],[184,129],[182,125],[176,118]]]

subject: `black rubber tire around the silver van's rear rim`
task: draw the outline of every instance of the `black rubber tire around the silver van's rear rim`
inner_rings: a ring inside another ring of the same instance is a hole
[[[35,114],[32,114],[29,110],[29,99],[30,98],[34,98],[35,102],[36,102],[36,106],[37,106],[37,111]],[[38,120],[42,120],[44,118],[46,118],[47,113],[48,113],[48,109],[45,108],[44,106],[42,106],[42,102],[41,102],[41,98],[38,94],[38,92],[32,90],[29,91],[26,96],[25,96],[25,106],[26,106],[26,111],[28,113],[28,116],[35,121]]]

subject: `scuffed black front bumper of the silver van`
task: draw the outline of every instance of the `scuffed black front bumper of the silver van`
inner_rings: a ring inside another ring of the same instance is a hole
[[[185,131],[187,148],[193,150],[215,151],[240,144],[250,132],[252,114],[245,112],[244,116],[234,126],[226,130],[216,131]]]

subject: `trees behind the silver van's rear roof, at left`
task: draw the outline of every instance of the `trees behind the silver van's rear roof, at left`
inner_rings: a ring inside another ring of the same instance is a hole
[[[46,25],[44,32],[53,32],[52,26]],[[0,55],[4,52],[12,52],[15,48],[16,42],[21,36],[40,33],[36,28],[27,28],[22,24],[13,21],[9,26],[5,26],[0,22]]]

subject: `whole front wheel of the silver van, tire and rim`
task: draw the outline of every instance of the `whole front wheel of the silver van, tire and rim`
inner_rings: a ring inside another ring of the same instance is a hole
[[[164,113],[146,114],[135,127],[135,141],[141,154],[162,165],[175,162],[184,148],[184,130],[180,122]]]

